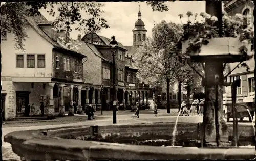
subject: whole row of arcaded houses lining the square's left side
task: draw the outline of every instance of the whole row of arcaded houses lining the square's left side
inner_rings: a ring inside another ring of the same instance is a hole
[[[140,35],[143,24],[135,24],[133,32]],[[74,101],[79,113],[88,104],[95,110],[110,110],[114,92],[119,104],[128,107],[139,101],[146,105],[150,89],[136,78],[138,69],[132,60],[138,46],[127,46],[129,51],[118,42],[114,91],[110,39],[90,32],[71,40],[65,31],[52,28],[42,15],[26,16],[25,51],[15,48],[13,34],[2,32],[1,95],[6,119],[23,116],[27,104],[34,103],[36,111],[40,111],[41,102],[49,117],[63,115]],[[66,45],[74,41],[80,44],[77,50]],[[138,44],[138,39],[134,41]],[[72,108],[69,112],[73,114]]]

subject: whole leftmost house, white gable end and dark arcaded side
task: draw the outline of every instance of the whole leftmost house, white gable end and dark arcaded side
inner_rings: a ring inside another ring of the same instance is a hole
[[[2,33],[1,94],[5,118],[23,116],[28,104],[34,104],[35,114],[40,114],[41,102],[48,117],[55,113],[63,116],[65,105],[72,115],[73,100],[78,104],[81,100],[82,59],[86,56],[66,48],[58,38],[62,33],[51,30],[51,22],[44,17],[26,16],[26,20],[28,38],[24,51],[15,48],[13,34]]]

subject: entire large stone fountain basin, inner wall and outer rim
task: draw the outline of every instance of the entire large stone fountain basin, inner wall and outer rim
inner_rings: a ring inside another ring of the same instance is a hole
[[[174,123],[61,127],[16,131],[4,136],[14,153],[23,160],[100,160],[100,159],[254,159],[255,148],[158,147],[120,144],[123,139],[170,138]],[[197,123],[180,123],[176,138],[200,139]],[[232,125],[228,124],[232,138]],[[240,124],[239,138],[255,137],[251,125]],[[81,137],[112,140],[117,143],[79,140]],[[66,139],[65,139],[66,138]],[[67,139],[68,138],[68,139]]]

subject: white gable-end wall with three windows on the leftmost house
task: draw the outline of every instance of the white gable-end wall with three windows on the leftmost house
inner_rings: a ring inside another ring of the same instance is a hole
[[[53,45],[30,25],[27,25],[26,32],[28,38],[24,42],[25,51],[15,48],[13,34],[7,33],[6,39],[2,38],[1,93],[6,93],[6,119],[22,113],[26,99],[30,104],[40,106],[40,96],[49,92]]]

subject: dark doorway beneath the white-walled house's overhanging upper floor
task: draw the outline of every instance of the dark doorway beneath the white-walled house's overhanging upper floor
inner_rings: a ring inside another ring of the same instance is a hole
[[[25,106],[29,104],[28,91],[16,91],[16,116],[25,114]]]

